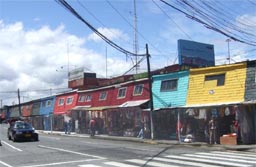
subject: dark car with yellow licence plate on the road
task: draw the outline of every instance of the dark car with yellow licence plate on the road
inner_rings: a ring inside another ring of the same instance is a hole
[[[10,124],[7,130],[7,138],[13,142],[20,140],[33,140],[38,141],[39,135],[35,129],[28,122],[16,121]]]

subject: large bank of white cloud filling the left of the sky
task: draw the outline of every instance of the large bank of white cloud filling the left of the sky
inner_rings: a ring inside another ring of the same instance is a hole
[[[101,31],[107,32],[111,39],[125,37],[118,30]],[[55,29],[43,26],[26,30],[21,22],[5,24],[0,21],[0,36],[0,99],[3,104],[12,101],[17,104],[18,88],[21,91],[67,88],[68,64],[70,70],[86,67],[99,77],[106,74],[105,55],[84,48],[86,40],[68,34],[63,25]],[[109,57],[107,62],[108,76],[119,75],[130,67],[117,58]],[[6,91],[13,91],[15,98],[8,100],[9,95],[1,93]],[[44,93],[49,95],[50,92]],[[26,96],[42,96],[42,92],[26,92]]]

